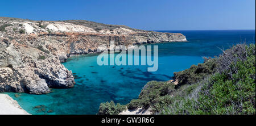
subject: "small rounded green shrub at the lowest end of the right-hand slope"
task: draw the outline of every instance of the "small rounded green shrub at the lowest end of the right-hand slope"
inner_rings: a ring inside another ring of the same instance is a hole
[[[101,103],[97,114],[98,115],[118,115],[125,109],[126,109],[125,106],[119,103],[115,105],[115,103],[111,101],[111,102]]]

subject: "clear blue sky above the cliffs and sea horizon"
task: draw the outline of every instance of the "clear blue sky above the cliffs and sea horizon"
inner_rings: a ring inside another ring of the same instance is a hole
[[[0,16],[85,19],[143,30],[255,30],[255,0],[2,1]]]

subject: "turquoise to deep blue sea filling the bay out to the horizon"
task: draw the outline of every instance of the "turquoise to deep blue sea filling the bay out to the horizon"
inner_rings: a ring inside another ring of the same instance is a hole
[[[188,42],[159,43],[159,67],[147,72],[148,66],[99,66],[97,54],[71,57],[63,65],[77,78],[72,89],[52,89],[45,95],[6,93],[30,114],[96,114],[102,102],[127,104],[138,98],[142,87],[152,80],[168,81],[174,72],[202,63],[234,44],[255,43],[255,30],[232,31],[163,31],[183,33]],[[15,94],[20,96],[15,97]],[[44,105],[47,113],[35,106]]]

